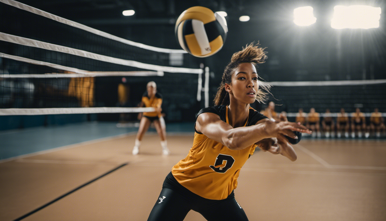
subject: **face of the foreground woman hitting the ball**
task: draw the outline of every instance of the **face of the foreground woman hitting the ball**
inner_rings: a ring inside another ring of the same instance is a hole
[[[230,89],[233,96],[242,103],[254,103],[259,89],[255,65],[241,63],[232,74]]]

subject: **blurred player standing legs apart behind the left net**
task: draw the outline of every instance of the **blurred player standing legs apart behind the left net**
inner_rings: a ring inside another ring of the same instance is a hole
[[[166,125],[163,116],[161,115],[162,96],[157,92],[157,84],[154,81],[147,83],[146,92],[142,96],[141,107],[153,107],[156,109],[154,112],[142,113],[141,121],[139,123],[139,130],[137,137],[135,138],[135,146],[132,154],[137,155],[139,153],[139,147],[141,145],[142,137],[146,133],[151,123],[154,123],[157,133],[161,138],[162,154],[168,155],[170,153],[167,141],[166,141]],[[141,115],[141,113],[140,113]]]

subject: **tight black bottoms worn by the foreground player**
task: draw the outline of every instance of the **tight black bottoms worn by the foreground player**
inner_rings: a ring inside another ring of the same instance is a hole
[[[248,220],[233,191],[223,200],[205,199],[179,184],[170,172],[147,221],[183,221],[191,209],[208,221]]]

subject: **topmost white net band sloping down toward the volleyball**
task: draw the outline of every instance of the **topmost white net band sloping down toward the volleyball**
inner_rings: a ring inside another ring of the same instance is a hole
[[[105,33],[103,31],[99,31],[99,30],[94,29],[92,27],[85,26],[85,25],[80,24],[78,22],[74,22],[74,21],[71,21],[71,20],[59,17],[57,15],[53,15],[51,13],[45,12],[45,11],[40,10],[40,9],[36,9],[34,7],[31,7],[29,5],[25,5],[25,4],[20,3],[20,2],[16,2],[14,0],[0,0],[0,2],[3,2],[5,4],[7,4],[7,5],[11,5],[13,7],[16,7],[16,8],[22,9],[22,10],[26,10],[28,12],[32,12],[32,13],[37,14],[37,15],[41,15],[43,17],[52,19],[54,21],[61,22],[63,24],[67,24],[67,25],[72,26],[72,27],[77,27],[79,29],[88,31],[90,33],[97,34],[99,36],[103,36],[105,38],[109,38],[109,39],[112,39],[112,40],[115,40],[115,41],[119,41],[121,43],[125,43],[127,45],[132,45],[132,46],[136,46],[136,47],[139,47],[139,48],[143,48],[143,49],[147,49],[147,50],[151,50],[151,51],[163,52],[163,53],[187,53],[184,50],[157,48],[157,47],[154,47],[154,46],[149,46],[149,45],[144,45],[142,43],[137,43],[137,42],[134,42],[134,41],[129,41],[129,40],[124,39],[124,38],[119,38],[119,37],[114,36],[112,34],[108,34],[108,33]]]

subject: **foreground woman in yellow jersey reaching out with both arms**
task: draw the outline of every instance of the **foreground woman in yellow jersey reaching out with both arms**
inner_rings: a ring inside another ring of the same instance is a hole
[[[193,147],[166,176],[148,221],[182,221],[191,209],[208,221],[246,221],[233,190],[256,145],[296,160],[284,135],[294,138],[293,131],[311,132],[298,123],[273,122],[249,106],[266,98],[258,90],[255,67],[265,58],[264,50],[253,44],[234,53],[223,73],[216,106],[198,112]]]

